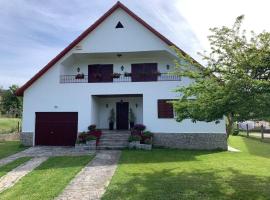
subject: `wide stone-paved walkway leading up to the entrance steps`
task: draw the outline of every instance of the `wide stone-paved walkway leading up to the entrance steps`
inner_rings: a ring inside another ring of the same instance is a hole
[[[97,200],[105,192],[119,160],[120,151],[99,151],[96,157],[64,189],[57,200]]]

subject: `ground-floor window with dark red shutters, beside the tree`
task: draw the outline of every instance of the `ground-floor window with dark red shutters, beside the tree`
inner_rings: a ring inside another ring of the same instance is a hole
[[[174,118],[173,105],[169,101],[173,99],[158,100],[158,118]]]

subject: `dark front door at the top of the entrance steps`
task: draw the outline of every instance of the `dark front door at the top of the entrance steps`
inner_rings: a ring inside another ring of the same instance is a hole
[[[128,129],[128,102],[116,103],[116,129]]]

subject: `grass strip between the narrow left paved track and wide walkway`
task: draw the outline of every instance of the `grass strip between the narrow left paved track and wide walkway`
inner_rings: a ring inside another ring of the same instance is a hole
[[[91,159],[90,156],[51,157],[12,188],[1,193],[0,199],[53,199]]]

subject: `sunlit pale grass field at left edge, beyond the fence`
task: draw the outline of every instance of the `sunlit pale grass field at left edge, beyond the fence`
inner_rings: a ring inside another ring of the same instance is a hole
[[[0,134],[17,132],[18,122],[18,118],[0,118]]]

